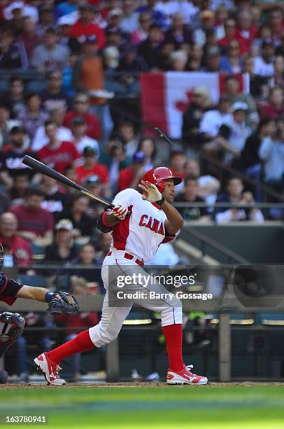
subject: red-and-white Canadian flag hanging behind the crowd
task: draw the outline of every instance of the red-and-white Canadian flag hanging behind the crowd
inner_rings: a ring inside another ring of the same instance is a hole
[[[236,75],[243,93],[250,92],[248,74]],[[224,74],[169,71],[141,74],[141,103],[143,121],[161,128],[173,138],[181,137],[183,113],[196,86],[206,86],[212,104],[217,104],[225,88]]]

